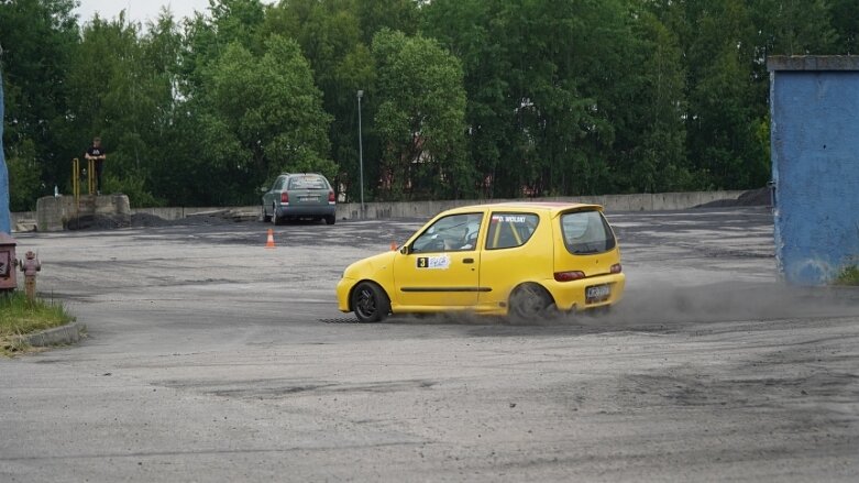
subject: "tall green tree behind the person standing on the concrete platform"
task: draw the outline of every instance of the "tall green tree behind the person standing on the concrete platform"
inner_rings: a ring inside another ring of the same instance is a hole
[[[178,32],[169,14],[148,34],[141,31],[124,13],[92,19],[81,33],[78,68],[68,75],[76,127],[68,155],[80,156],[92,136],[101,136],[108,151],[103,188],[124,193],[133,206],[165,202],[154,195],[154,173],[167,156],[164,141],[175,105],[170,72],[177,68]]]

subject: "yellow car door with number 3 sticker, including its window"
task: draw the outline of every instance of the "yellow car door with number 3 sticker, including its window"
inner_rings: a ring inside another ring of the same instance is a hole
[[[410,307],[471,307],[477,304],[477,237],[483,213],[450,215],[427,227],[394,260],[396,299]],[[475,237],[474,233],[477,233]]]

